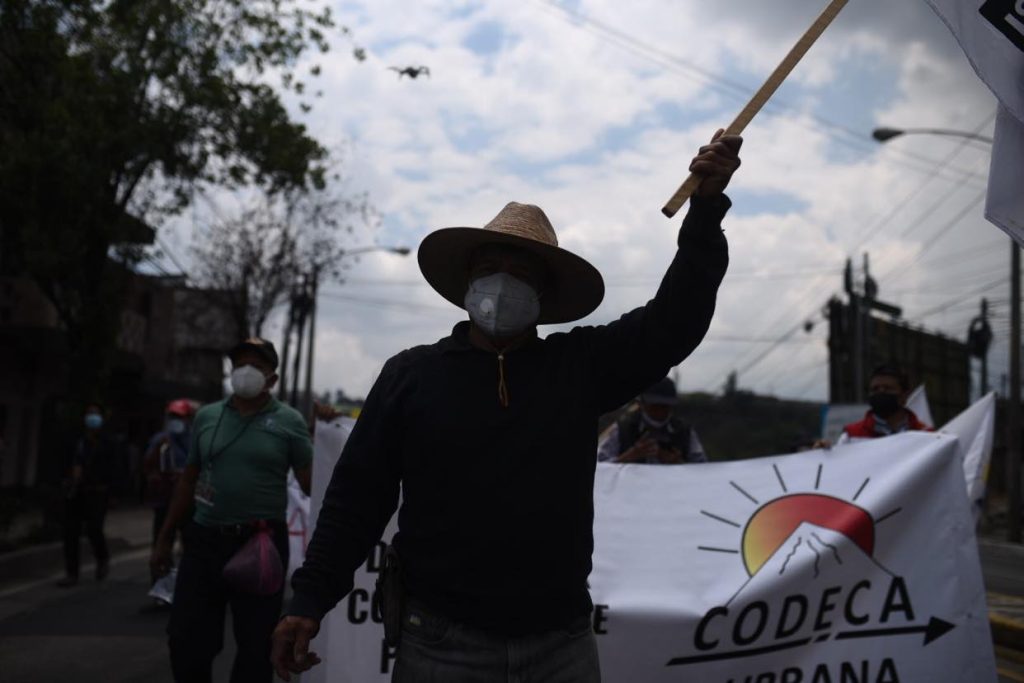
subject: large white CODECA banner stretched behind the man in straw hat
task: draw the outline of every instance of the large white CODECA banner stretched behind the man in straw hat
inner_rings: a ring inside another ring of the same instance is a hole
[[[321,441],[314,481],[340,451]],[[599,464],[603,679],[994,681],[958,447],[912,432],[731,463]],[[389,680],[394,652],[370,612],[377,560],[325,618],[325,660],[304,681]]]

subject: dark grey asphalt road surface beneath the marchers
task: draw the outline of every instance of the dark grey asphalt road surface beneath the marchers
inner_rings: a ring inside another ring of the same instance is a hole
[[[101,584],[85,580],[75,588],[57,589],[48,578],[0,592],[0,679],[4,683],[172,683],[164,635],[167,610],[154,607],[145,596],[146,559],[146,551],[117,558],[110,578]],[[986,578],[1007,582],[998,584],[1004,589],[1024,581],[1019,570],[1014,572],[998,557],[990,556],[986,557]],[[990,590],[996,590],[993,586]],[[1021,655],[999,653],[1000,683],[1024,681]],[[228,636],[214,681],[226,683],[232,656]]]

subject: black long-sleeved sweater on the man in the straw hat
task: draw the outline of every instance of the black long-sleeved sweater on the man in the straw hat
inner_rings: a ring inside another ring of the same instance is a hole
[[[554,629],[591,607],[597,418],[665,377],[711,324],[728,253],[724,196],[694,198],[655,297],[498,360],[450,337],[387,361],[335,467],[290,614],[322,618],[398,502],[409,595],[480,629]]]

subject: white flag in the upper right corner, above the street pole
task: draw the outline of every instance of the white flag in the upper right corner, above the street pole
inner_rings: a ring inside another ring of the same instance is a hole
[[[1024,246],[1024,0],[927,0],[999,100],[985,217]]]

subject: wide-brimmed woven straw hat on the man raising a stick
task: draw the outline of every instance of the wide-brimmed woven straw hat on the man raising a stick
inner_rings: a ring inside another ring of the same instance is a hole
[[[584,317],[604,298],[601,273],[585,259],[559,248],[551,221],[532,204],[510,202],[481,227],[443,227],[420,243],[420,270],[438,294],[463,308],[469,259],[483,245],[509,245],[536,254],[547,269],[539,325]]]

